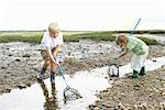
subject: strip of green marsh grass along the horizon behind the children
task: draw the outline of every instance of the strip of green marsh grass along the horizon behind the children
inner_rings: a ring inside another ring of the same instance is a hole
[[[65,42],[79,42],[80,40],[94,40],[94,41],[114,41],[114,33],[130,33],[131,31],[63,31]],[[138,33],[161,33],[165,31],[136,31]],[[40,43],[44,31],[1,31],[0,32],[0,43],[8,42],[30,42],[30,43]],[[157,45],[156,40],[140,37],[147,45]]]

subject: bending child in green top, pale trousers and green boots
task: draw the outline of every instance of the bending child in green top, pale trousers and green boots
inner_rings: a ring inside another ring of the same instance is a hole
[[[133,74],[131,78],[138,78],[139,75],[145,75],[144,64],[148,54],[147,45],[138,37],[127,35],[119,35],[116,42],[123,50],[119,57],[122,57],[128,53],[133,54],[131,59],[131,68],[133,69]]]

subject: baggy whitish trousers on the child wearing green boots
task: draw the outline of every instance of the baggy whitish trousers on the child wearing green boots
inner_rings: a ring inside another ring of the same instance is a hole
[[[140,73],[141,68],[145,66],[145,61],[147,58],[148,52],[143,55],[133,55],[131,58],[131,68]]]

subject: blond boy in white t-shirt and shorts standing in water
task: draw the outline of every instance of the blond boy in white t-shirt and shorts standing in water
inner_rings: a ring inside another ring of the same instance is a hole
[[[48,31],[44,33],[44,36],[41,41],[42,46],[42,56],[44,59],[44,65],[42,70],[40,72],[37,78],[43,79],[44,73],[46,72],[46,68],[48,65],[51,65],[51,82],[55,82],[55,70],[56,66],[58,65],[56,61],[54,59],[55,56],[57,56],[57,53],[61,50],[61,46],[63,45],[63,34],[58,28],[58,24],[55,22],[51,23],[48,25]]]

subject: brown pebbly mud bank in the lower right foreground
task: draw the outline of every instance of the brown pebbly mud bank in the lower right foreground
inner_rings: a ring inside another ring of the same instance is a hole
[[[90,110],[164,110],[165,66],[138,79],[119,78],[97,97]]]

